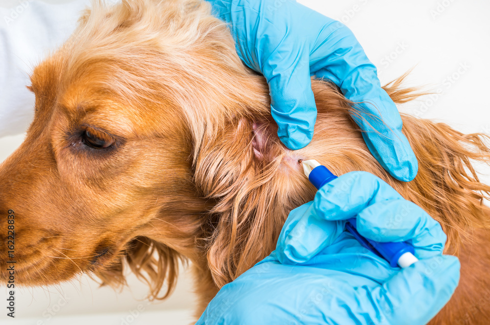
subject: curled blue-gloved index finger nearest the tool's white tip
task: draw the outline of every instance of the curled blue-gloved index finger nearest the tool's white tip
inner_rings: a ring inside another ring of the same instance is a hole
[[[355,171],[322,186],[315,195],[314,209],[320,219],[346,220],[377,202],[404,200],[379,177]]]

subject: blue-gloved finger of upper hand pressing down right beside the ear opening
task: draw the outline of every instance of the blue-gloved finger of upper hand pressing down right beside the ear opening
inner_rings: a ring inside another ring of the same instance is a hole
[[[281,5],[274,13],[277,19],[259,23],[260,35],[267,37],[256,43],[260,71],[269,84],[270,112],[278,126],[277,135],[291,150],[310,143],[317,119],[310,50],[320,28],[319,13],[304,9],[296,2]],[[304,28],[306,21],[317,25]]]

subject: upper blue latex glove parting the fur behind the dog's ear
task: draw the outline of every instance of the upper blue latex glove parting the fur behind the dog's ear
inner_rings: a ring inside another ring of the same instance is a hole
[[[417,158],[401,133],[398,110],[349,28],[292,0],[209,2],[221,20],[231,23],[242,61],[266,77],[277,135],[288,148],[303,148],[312,139],[317,107],[310,76],[317,75],[352,101],[374,103],[360,105],[364,119],[352,116],[365,131],[369,150],[396,179],[415,178]]]

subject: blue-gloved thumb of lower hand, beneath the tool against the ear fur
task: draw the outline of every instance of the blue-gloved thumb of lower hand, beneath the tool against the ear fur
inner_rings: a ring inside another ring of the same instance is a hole
[[[307,262],[337,239],[344,224],[344,221],[319,219],[313,201],[306,203],[289,214],[274,254],[282,264]]]

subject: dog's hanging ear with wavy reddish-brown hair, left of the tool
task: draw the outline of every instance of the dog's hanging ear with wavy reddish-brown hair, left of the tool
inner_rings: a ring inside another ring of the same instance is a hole
[[[273,136],[270,141],[280,141]],[[258,160],[252,138],[250,121],[230,122],[214,137],[203,138],[196,158],[196,188],[216,202],[202,216],[198,246],[206,249],[207,264],[219,288],[269,255],[289,211],[313,195],[307,191],[292,195],[290,186],[301,188],[302,176],[291,175],[287,180],[278,176],[283,153],[272,153],[277,159],[271,162]]]

